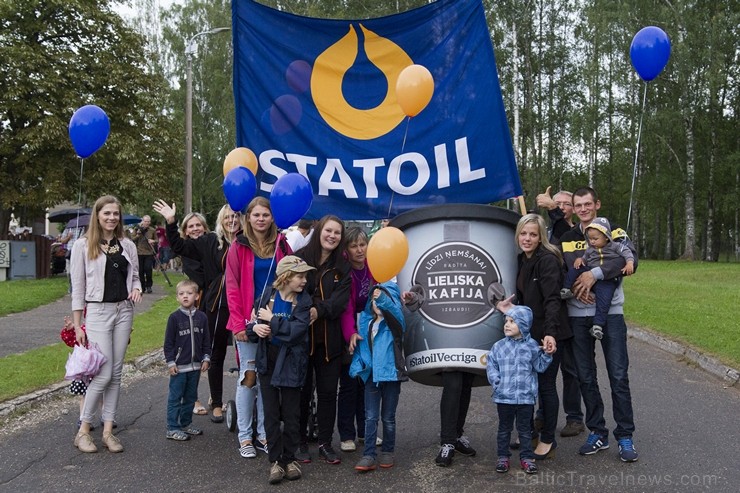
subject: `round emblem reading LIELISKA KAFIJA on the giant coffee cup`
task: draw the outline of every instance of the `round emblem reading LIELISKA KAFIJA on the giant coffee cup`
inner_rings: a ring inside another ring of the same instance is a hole
[[[420,311],[427,320],[448,328],[478,324],[494,311],[488,287],[501,272],[488,253],[467,242],[432,247],[416,263],[413,284],[424,289]]]

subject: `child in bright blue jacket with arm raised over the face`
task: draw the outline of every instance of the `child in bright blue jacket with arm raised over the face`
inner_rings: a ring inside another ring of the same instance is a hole
[[[357,347],[350,347],[354,355],[349,375],[359,376],[365,382],[365,450],[355,466],[361,472],[372,471],[377,465],[393,467],[394,463],[396,407],[401,382],[408,379],[403,356],[406,322],[401,307],[401,292],[396,283],[373,286],[357,324]],[[376,461],[375,439],[381,401],[383,445]]]

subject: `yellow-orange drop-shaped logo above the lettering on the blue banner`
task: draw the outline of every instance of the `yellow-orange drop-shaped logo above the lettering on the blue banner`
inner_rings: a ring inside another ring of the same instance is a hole
[[[387,91],[374,108],[352,106],[342,92],[342,82],[359,53],[356,29],[350,25],[345,36],[314,60],[311,96],[319,114],[331,128],[353,139],[371,140],[387,134],[406,117],[396,99],[396,81],[401,71],[414,62],[396,43],[360,24],[364,37],[362,48],[370,63],[385,75]]]

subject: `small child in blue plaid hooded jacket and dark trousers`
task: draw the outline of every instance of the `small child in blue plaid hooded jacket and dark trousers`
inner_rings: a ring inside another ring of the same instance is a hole
[[[529,336],[532,310],[516,305],[506,312],[504,337],[488,352],[486,374],[493,386],[498,410],[498,462],[496,472],[509,470],[509,440],[516,419],[521,448],[519,462],[527,474],[537,472],[532,452],[532,419],[537,401],[537,373],[544,372],[552,356]]]

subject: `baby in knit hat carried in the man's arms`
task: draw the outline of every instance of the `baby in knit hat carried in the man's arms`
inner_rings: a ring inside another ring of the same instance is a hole
[[[586,226],[586,239],[588,247],[583,254],[573,263],[573,269],[568,269],[565,283],[560,295],[563,299],[570,299],[573,293],[570,288],[583,272],[597,267],[607,265],[614,270],[621,270],[622,274],[629,276],[635,271],[635,256],[625,243],[612,241],[612,229],[609,221],[603,217],[595,217]],[[604,337],[604,325],[609,307],[622,277],[603,279],[593,285],[591,291],[596,297],[596,315],[594,315],[593,326],[589,330],[591,336],[596,339]]]

